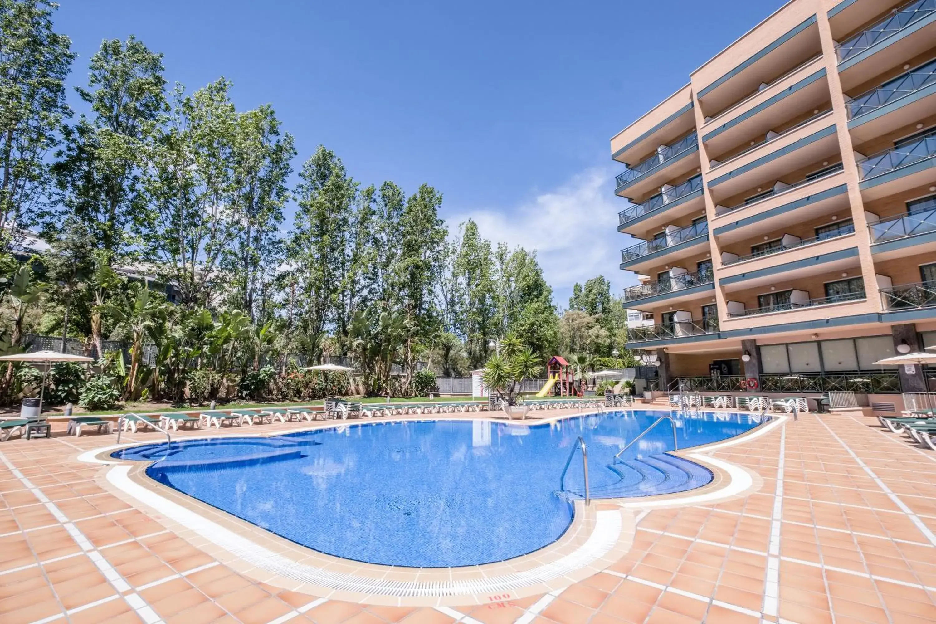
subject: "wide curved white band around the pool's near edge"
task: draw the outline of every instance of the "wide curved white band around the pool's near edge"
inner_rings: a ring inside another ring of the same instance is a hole
[[[227,530],[208,518],[198,515],[174,501],[160,496],[129,478],[130,466],[110,469],[108,481],[138,501],[162,515],[179,522],[238,559],[243,559],[265,572],[273,573],[309,585],[352,591],[373,596],[451,597],[501,592],[541,585],[573,573],[597,559],[601,559],[618,543],[622,531],[618,511],[596,513],[594,530],[577,550],[551,563],[518,573],[501,574],[488,578],[464,581],[388,581],[351,573],[331,572],[324,568],[298,563],[272,552],[248,538]]]

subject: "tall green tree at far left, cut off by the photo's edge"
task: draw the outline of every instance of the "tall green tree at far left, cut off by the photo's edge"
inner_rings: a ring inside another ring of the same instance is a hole
[[[52,31],[58,5],[0,0],[0,248],[38,217],[49,186],[47,154],[58,144],[65,80],[75,55],[67,36]]]

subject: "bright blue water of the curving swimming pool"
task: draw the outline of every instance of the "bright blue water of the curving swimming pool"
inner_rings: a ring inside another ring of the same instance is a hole
[[[664,421],[626,411],[536,426],[490,421],[371,421],[272,438],[227,438],[123,449],[153,462],[154,480],[314,550],[371,563],[446,567],[511,559],[550,544],[583,494],[578,436],[588,446],[592,498],[703,486],[711,473],[668,455]],[[676,416],[677,414],[673,414]],[[759,424],[752,414],[684,414],[680,449]]]

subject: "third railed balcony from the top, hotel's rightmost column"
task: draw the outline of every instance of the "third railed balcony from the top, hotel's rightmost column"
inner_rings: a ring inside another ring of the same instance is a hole
[[[931,131],[858,161],[861,195],[878,199],[936,180],[934,156],[936,131]]]

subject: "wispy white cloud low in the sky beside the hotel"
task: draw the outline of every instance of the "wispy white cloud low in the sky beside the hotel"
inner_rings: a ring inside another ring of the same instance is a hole
[[[592,167],[562,186],[503,210],[469,210],[448,219],[457,226],[473,219],[481,235],[536,250],[559,305],[567,303],[574,283],[597,275],[611,282],[613,294],[636,283],[618,268],[622,248],[635,244],[617,231],[618,212],[627,201],[614,195],[614,172],[620,167]]]

